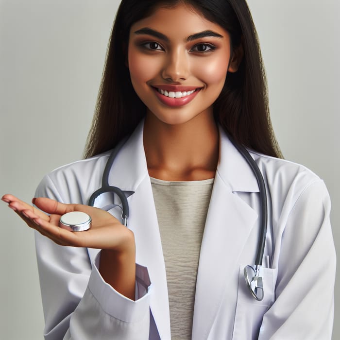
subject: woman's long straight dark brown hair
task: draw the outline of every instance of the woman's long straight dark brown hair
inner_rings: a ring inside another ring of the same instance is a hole
[[[102,84],[85,158],[114,148],[131,134],[145,116],[146,107],[131,84],[126,66],[131,26],[160,6],[191,5],[209,21],[224,28],[232,47],[242,44],[238,71],[228,73],[214,103],[215,119],[244,146],[281,157],[269,115],[268,91],[255,25],[245,0],[122,0],[108,44]],[[229,60],[225,61],[226,63]]]

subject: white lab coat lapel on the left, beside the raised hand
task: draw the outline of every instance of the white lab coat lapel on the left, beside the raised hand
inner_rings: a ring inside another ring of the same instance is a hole
[[[167,279],[153,192],[143,147],[143,121],[117,155],[109,184],[134,191],[128,197],[128,227],[136,239],[136,263],[148,268],[152,282],[151,311],[161,339],[170,339]]]

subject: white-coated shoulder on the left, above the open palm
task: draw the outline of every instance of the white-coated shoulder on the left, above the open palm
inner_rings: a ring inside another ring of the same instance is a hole
[[[102,183],[102,173],[110,151],[72,162],[52,170],[39,183],[35,196],[64,203],[86,204]]]

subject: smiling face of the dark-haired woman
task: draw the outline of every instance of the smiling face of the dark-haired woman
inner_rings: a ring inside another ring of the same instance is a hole
[[[154,115],[166,124],[212,117],[230,61],[229,34],[183,4],[158,8],[130,30],[128,67],[132,85]]]

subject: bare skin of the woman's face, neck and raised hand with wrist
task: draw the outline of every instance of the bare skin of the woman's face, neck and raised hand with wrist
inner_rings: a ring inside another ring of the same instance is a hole
[[[237,71],[241,58],[241,48],[231,52],[230,37],[223,28],[183,4],[160,7],[132,26],[126,65],[137,95],[147,106],[144,150],[150,176],[170,181],[215,176],[219,134],[213,103],[227,72]],[[164,99],[158,89],[183,97]],[[120,221],[87,205],[34,199],[39,209],[51,214],[47,215],[12,195],[2,200],[28,226],[57,244],[102,249],[103,279],[134,300],[135,239]],[[91,228],[84,232],[60,228],[60,216],[70,211],[89,214]]]

